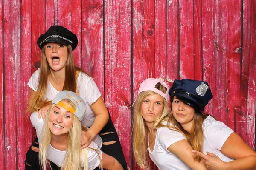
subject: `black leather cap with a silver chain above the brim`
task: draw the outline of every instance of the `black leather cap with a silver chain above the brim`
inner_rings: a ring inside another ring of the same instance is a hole
[[[72,51],[76,48],[78,40],[76,34],[63,26],[51,26],[44,34],[40,35],[37,44],[42,50],[47,42],[57,42],[63,45],[71,45]]]

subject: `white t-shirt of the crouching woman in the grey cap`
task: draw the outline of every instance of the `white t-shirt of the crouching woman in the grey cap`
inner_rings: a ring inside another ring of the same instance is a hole
[[[38,115],[38,112],[32,113],[32,115],[30,116],[30,120],[31,120],[32,125],[36,129],[38,141],[41,142],[41,130],[44,126],[44,121],[42,118],[39,119],[37,115]],[[95,143],[92,141],[91,144],[89,145],[89,147],[96,149],[98,151],[99,155],[95,152],[95,150],[92,150],[87,147],[88,169],[89,170],[93,170],[96,167],[98,167],[100,160],[102,160],[102,151],[99,149],[99,147],[98,147],[99,145],[102,145],[102,141],[101,141],[101,143]],[[47,153],[46,153],[47,159],[49,159],[50,161],[52,161],[53,163],[58,165],[58,167],[62,167],[65,155],[66,155],[66,151],[57,150],[54,147],[52,147],[51,144],[47,147]],[[82,167],[84,167],[84,155],[82,156]]]

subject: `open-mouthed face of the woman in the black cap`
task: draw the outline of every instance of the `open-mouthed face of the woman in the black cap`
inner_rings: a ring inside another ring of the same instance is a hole
[[[59,71],[65,68],[68,56],[66,45],[49,42],[45,47],[45,55],[52,71]]]

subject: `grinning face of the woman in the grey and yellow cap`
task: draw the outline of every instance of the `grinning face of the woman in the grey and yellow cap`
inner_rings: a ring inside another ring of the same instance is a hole
[[[62,102],[71,107],[68,102]],[[72,116],[70,111],[67,111],[59,105],[55,105],[49,117],[49,129],[52,135],[68,135],[72,125]]]

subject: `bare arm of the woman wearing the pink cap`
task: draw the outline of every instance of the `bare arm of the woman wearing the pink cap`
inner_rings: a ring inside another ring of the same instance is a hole
[[[200,162],[194,161],[194,153],[192,147],[186,140],[180,140],[167,148],[170,152],[174,153],[181,161],[183,161],[192,170],[207,170],[204,160]]]

